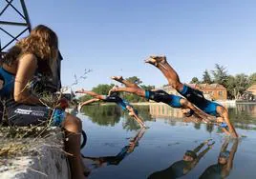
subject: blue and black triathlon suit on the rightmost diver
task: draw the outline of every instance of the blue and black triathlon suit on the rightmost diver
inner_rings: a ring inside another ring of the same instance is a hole
[[[183,89],[179,93],[205,113],[216,117],[220,116],[216,109],[221,105],[205,99],[202,91],[183,85]]]

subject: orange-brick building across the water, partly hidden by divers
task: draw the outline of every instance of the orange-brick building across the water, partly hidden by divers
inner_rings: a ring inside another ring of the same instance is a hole
[[[227,91],[224,86],[220,84],[187,84],[189,87],[193,89],[199,89],[203,91],[203,96],[209,100],[226,100],[227,99]],[[180,95],[176,89],[173,89],[171,86],[164,86],[161,89],[165,90],[168,93],[172,93],[175,95]],[[256,86],[255,86],[256,92]]]

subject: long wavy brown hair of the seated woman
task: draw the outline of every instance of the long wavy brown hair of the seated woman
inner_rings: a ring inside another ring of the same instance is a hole
[[[32,53],[37,58],[38,70],[42,73],[52,73],[57,50],[58,40],[55,32],[46,26],[39,25],[4,55],[3,63],[11,66],[21,55]]]

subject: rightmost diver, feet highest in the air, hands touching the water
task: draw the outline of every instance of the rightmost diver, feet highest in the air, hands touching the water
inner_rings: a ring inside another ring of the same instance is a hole
[[[165,56],[150,56],[145,60],[145,63],[157,67],[166,77],[168,84],[198,109],[202,109],[206,114],[216,117],[218,123],[224,122],[228,127],[222,128],[226,134],[231,134],[235,138],[238,137],[236,129],[229,120],[227,110],[222,105],[205,99],[202,91],[182,84],[176,70],[170,66]]]

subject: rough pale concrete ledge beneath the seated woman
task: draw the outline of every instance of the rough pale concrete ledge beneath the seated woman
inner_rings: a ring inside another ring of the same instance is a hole
[[[7,154],[0,157],[0,178],[5,179],[69,179],[70,171],[64,153],[63,133],[51,129],[47,137],[9,139],[13,148],[29,147],[18,156]],[[0,140],[0,147],[7,148],[7,139]],[[3,143],[4,142],[4,143]],[[6,146],[5,146],[6,144]],[[19,150],[19,151],[21,151]],[[17,152],[19,152],[17,151]]]

